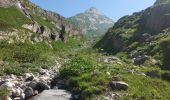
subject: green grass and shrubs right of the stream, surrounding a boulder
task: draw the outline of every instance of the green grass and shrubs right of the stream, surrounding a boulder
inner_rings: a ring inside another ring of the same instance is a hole
[[[99,54],[91,49],[83,50],[72,56],[71,60],[61,67],[60,75],[69,81],[68,88],[78,94],[81,99],[88,100],[96,95],[102,96],[105,92],[113,91],[108,84],[115,77],[129,84],[127,91],[114,91],[122,94],[120,100],[170,99],[169,82],[159,78],[131,74],[126,70],[145,73],[152,70],[161,71],[159,67],[135,67],[132,63],[124,62],[125,55],[124,53],[117,54],[122,58],[122,64],[112,64],[96,62],[97,58],[107,57],[104,54]],[[167,78],[167,75],[169,74],[164,74],[164,77]]]

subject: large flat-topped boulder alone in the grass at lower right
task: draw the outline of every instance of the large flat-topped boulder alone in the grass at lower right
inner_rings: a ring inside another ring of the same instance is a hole
[[[123,81],[112,81],[110,82],[110,87],[113,90],[127,90],[129,86]]]

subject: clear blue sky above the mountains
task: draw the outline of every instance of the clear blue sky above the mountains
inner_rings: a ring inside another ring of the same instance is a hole
[[[31,0],[40,7],[57,12],[64,17],[74,16],[84,12],[90,7],[95,7],[106,16],[118,20],[122,16],[141,11],[156,0]]]

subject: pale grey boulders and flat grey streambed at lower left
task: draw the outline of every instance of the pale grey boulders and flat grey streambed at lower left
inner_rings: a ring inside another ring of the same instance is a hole
[[[58,89],[64,85],[58,73],[58,67],[54,67],[49,70],[40,68],[39,72],[22,76],[1,76],[0,88],[10,90],[9,100],[54,100],[56,97],[57,100],[70,100],[71,93]]]

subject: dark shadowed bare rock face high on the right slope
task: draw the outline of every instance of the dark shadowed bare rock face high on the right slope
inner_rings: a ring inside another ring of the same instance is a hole
[[[141,22],[150,33],[170,27],[170,3],[153,6],[144,11]]]

